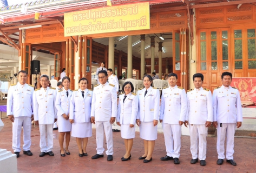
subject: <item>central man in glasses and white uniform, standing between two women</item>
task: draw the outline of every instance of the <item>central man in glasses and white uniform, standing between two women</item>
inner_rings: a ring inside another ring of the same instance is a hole
[[[98,73],[99,85],[94,86],[93,101],[91,102],[91,123],[96,124],[97,154],[91,157],[97,159],[103,157],[104,132],[106,134],[107,160],[113,160],[113,132],[112,125],[117,114],[116,87],[107,82],[107,71],[101,70]]]

